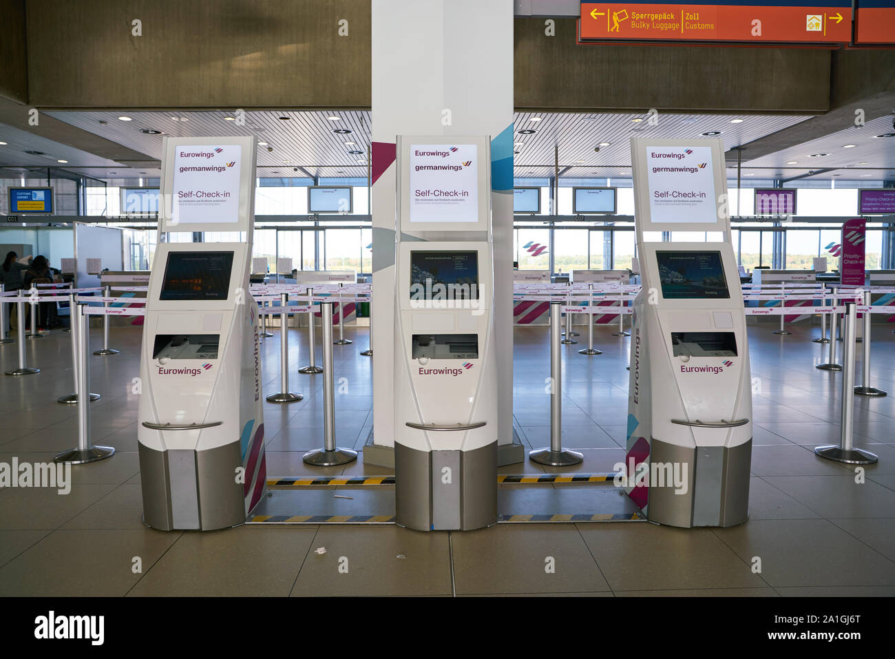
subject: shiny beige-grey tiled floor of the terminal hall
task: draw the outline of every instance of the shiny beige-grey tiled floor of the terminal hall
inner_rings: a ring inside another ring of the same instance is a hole
[[[840,432],[842,376],[814,369],[826,356],[826,347],[809,340],[818,329],[797,326],[788,337],[771,329],[750,328],[759,393],[750,519],[742,526],[530,524],[451,534],[396,526],[242,526],[200,534],[141,524],[137,397],[131,391],[141,331],[115,327],[112,345],[122,353],[91,356],[90,368],[91,389],[103,396],[92,404],[93,440],[117,452],[74,466],[72,492],[64,496],[0,490],[0,595],[895,595],[891,329],[874,328],[872,364],[873,384],[892,396],[856,400],[855,443],[880,456],[877,465],[865,467],[863,483],[854,470],[812,452],[819,443],[838,441]],[[629,339],[611,331],[597,330],[603,355],[578,355],[581,343],[566,348],[563,441],[582,450],[585,460],[555,471],[608,471],[624,453]],[[362,449],[372,423],[371,360],[358,355],[367,347],[366,331],[347,335],[354,345],[334,348],[336,376],[347,384],[337,395],[337,441]],[[94,329],[94,348],[100,336]],[[304,361],[305,338],[303,331],[291,333],[294,365]],[[267,394],[278,389],[278,350],[276,336],[262,349]],[[0,462],[47,461],[75,445],[75,409],[55,402],[72,389],[69,351],[69,335],[55,331],[28,342],[27,362],[41,373],[0,375]],[[540,448],[549,441],[547,330],[516,329],[515,354],[517,430],[526,448]],[[0,372],[15,360],[14,344],[0,346]],[[305,466],[303,452],[322,442],[322,379],[293,373],[291,382],[303,401],[265,407],[269,475],[387,471],[362,462]],[[544,468],[525,463],[502,471]],[[606,495],[592,488],[591,498],[586,488],[561,487],[550,488],[558,505]],[[519,490],[514,501],[535,505]],[[323,501],[332,494],[327,489],[315,496]],[[340,501],[363,503],[361,497]]]

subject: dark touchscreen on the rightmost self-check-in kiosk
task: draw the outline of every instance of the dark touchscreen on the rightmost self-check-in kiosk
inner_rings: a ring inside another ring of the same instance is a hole
[[[721,252],[656,252],[666,300],[729,299]]]

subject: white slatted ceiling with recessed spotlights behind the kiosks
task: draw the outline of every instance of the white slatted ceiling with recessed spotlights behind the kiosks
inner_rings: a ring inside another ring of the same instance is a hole
[[[236,116],[232,111],[200,112],[64,112],[47,113],[60,121],[115,141],[129,149],[146,154],[151,159],[161,158],[164,135],[210,136],[255,135],[268,145],[259,147],[259,175],[263,177],[305,176],[305,172],[321,177],[356,177],[367,175],[366,153],[371,140],[371,113],[369,111],[247,111],[244,122],[227,121],[224,117]],[[119,116],[130,116],[132,121],[121,121]],[[281,116],[289,117],[287,120]],[[331,121],[329,116],[337,116]],[[174,120],[176,117],[176,121]],[[541,121],[531,121],[541,117]],[[185,119],[185,121],[183,120]],[[643,121],[635,122],[635,119]],[[732,123],[732,120],[741,122]],[[516,113],[514,139],[516,150],[516,176],[548,177],[553,174],[554,149],[559,148],[559,166],[569,167],[565,177],[581,178],[628,178],[630,177],[629,138],[634,136],[653,138],[699,137],[701,133],[720,131],[726,150],[745,145],[750,141],[784,130],[789,126],[810,121],[808,116],[776,115],[687,115],[659,114],[655,121],[649,115],[632,113]],[[347,128],[352,133],[333,133],[337,128]],[[519,134],[520,129],[533,128],[537,133]],[[162,131],[161,135],[141,133],[143,129]],[[866,167],[871,179],[895,177],[895,139],[874,139],[873,135],[891,131],[891,119],[883,117],[868,123],[861,129],[851,128],[841,133],[827,135],[798,147],[782,150],[750,161],[748,150],[743,151],[743,175],[757,179],[790,177],[811,170],[827,167]],[[98,178],[122,176],[159,175],[158,169],[128,167],[89,153],[65,147],[37,135],[9,128],[0,124],[0,166],[27,165],[47,167],[56,165],[56,158],[69,160],[65,167]],[[345,145],[346,141],[354,144]],[[594,148],[601,142],[599,152]],[[853,143],[853,149],[842,149]],[[271,149],[268,151],[268,148]],[[26,156],[24,150],[41,150],[53,158]],[[360,150],[352,155],[348,150]],[[808,158],[809,153],[829,152],[828,158]],[[731,158],[731,153],[728,153]],[[796,160],[797,165],[786,163]],[[866,162],[866,165],[858,165]],[[730,165],[730,160],[728,161]],[[294,171],[294,167],[303,170]],[[891,167],[881,172],[879,167]],[[841,169],[815,175],[814,178],[831,178],[833,175],[857,178]],[[736,177],[736,170],[729,169],[728,176]],[[747,180],[747,179],[745,179]]]

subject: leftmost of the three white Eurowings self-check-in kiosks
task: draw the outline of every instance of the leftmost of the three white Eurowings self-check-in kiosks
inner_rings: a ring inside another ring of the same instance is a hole
[[[239,525],[265,493],[259,319],[249,295],[254,152],[253,138],[166,140],[162,185],[173,202],[159,237],[227,230],[245,239],[159,240],[138,426],[143,521],[154,528]]]

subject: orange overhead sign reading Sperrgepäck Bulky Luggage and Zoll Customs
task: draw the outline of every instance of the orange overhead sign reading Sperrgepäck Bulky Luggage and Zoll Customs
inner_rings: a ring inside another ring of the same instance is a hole
[[[848,43],[851,7],[582,3],[581,39]]]

